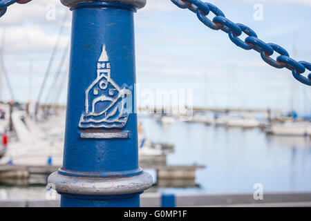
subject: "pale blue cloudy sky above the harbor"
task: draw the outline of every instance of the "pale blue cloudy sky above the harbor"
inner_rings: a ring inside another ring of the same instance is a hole
[[[209,2],[235,23],[252,28],[260,39],[283,46],[294,59],[311,61],[311,1]],[[260,20],[254,19],[254,15],[258,15],[258,3],[263,12]],[[189,10],[182,10],[169,0],[147,0],[147,6],[134,16],[137,81],[142,88],[191,89],[194,106],[282,108],[285,111],[294,108],[299,113],[311,114],[310,86],[297,82],[287,69],[265,64],[258,52],[238,48],[225,32],[207,28]],[[10,6],[0,18],[0,37],[5,33],[4,38],[1,37],[4,39],[3,61],[15,100],[37,99],[64,19],[64,32],[43,102],[53,98],[48,91],[69,41],[70,10],[59,1],[33,0],[25,5]],[[66,81],[67,73],[68,56],[61,80],[52,88]],[[8,86],[5,79],[2,81],[1,98],[8,101]],[[59,102],[66,103],[66,87]]]

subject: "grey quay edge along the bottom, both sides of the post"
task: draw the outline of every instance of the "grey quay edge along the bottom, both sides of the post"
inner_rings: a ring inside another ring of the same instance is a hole
[[[263,200],[254,200],[253,193],[176,193],[177,207],[311,207],[311,192],[264,193]],[[144,193],[142,207],[160,207],[160,193]],[[59,199],[0,200],[0,207],[59,207]]]

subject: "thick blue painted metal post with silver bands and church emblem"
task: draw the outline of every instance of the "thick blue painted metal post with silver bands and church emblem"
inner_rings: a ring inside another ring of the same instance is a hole
[[[61,206],[140,206],[133,13],[146,0],[61,0],[73,10]]]

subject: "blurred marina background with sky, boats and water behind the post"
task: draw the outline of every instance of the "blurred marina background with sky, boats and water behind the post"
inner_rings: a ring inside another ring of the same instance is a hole
[[[311,61],[310,1],[209,2]],[[0,19],[0,162],[18,167],[0,170],[0,200],[46,199],[46,177],[62,165],[71,14],[34,0]],[[311,191],[311,90],[289,70],[169,0],[135,14],[135,53],[140,164],[155,182],[147,193]],[[153,96],[167,90],[187,97],[187,117]]]

